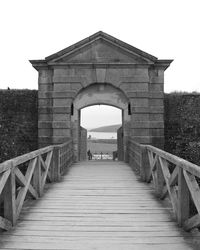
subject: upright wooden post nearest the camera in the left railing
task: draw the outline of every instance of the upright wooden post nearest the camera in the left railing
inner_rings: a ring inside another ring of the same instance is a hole
[[[12,164],[12,163],[11,163]],[[11,166],[11,173],[4,187],[4,218],[14,226],[17,221],[16,215],[16,182],[14,169]]]

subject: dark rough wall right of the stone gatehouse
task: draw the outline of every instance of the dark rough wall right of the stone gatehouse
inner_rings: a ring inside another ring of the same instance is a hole
[[[200,165],[200,94],[165,94],[165,150]]]

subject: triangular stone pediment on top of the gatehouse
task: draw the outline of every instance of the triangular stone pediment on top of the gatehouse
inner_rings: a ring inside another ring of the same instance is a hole
[[[151,63],[156,57],[104,32],[45,58],[49,63]]]

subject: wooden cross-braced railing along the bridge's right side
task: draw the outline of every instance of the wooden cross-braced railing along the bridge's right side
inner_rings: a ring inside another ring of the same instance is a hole
[[[200,227],[200,166],[132,139],[129,162],[143,181],[153,183],[159,198],[169,198],[180,226],[186,231]]]

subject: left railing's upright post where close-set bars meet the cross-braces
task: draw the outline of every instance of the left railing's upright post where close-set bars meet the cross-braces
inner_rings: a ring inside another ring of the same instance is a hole
[[[51,170],[52,181],[59,181],[61,173],[60,173],[60,148],[58,146],[54,146],[53,148],[53,159],[51,167],[52,167]]]

